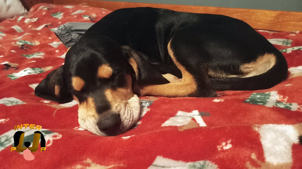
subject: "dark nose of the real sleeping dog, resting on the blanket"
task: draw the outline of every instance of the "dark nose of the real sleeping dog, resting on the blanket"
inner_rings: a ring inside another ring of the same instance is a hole
[[[122,123],[119,114],[100,115],[100,119],[96,123],[98,129],[109,136],[116,135],[120,130]]]

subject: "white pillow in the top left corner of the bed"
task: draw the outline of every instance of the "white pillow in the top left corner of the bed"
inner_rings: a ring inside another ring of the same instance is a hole
[[[0,0],[0,22],[25,14],[27,11],[19,0]]]

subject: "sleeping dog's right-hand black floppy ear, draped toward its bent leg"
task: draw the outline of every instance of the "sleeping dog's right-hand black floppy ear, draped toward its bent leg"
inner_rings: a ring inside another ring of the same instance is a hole
[[[129,46],[123,46],[123,54],[132,66],[137,84],[166,84],[169,83],[162,74],[151,64],[148,57]]]

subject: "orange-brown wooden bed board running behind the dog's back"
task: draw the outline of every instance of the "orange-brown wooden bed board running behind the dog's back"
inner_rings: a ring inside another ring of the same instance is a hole
[[[166,8],[175,11],[220,14],[234,17],[245,21],[255,29],[273,30],[273,31],[302,31],[302,12],[288,11],[270,11],[259,9],[240,9],[240,8],[220,8],[205,6],[189,5],[166,5],[150,3],[133,3],[133,2],[113,2],[113,1],[96,1],[96,0],[21,0],[25,8],[29,9],[37,3],[50,4],[83,4],[94,7],[105,8],[108,10],[117,10],[120,8],[133,7],[154,7]]]

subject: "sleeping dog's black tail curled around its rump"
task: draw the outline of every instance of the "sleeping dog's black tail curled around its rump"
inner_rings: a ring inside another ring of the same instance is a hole
[[[217,91],[268,89],[283,81],[288,66],[281,52],[275,52],[276,63],[267,72],[246,78],[210,78]]]

